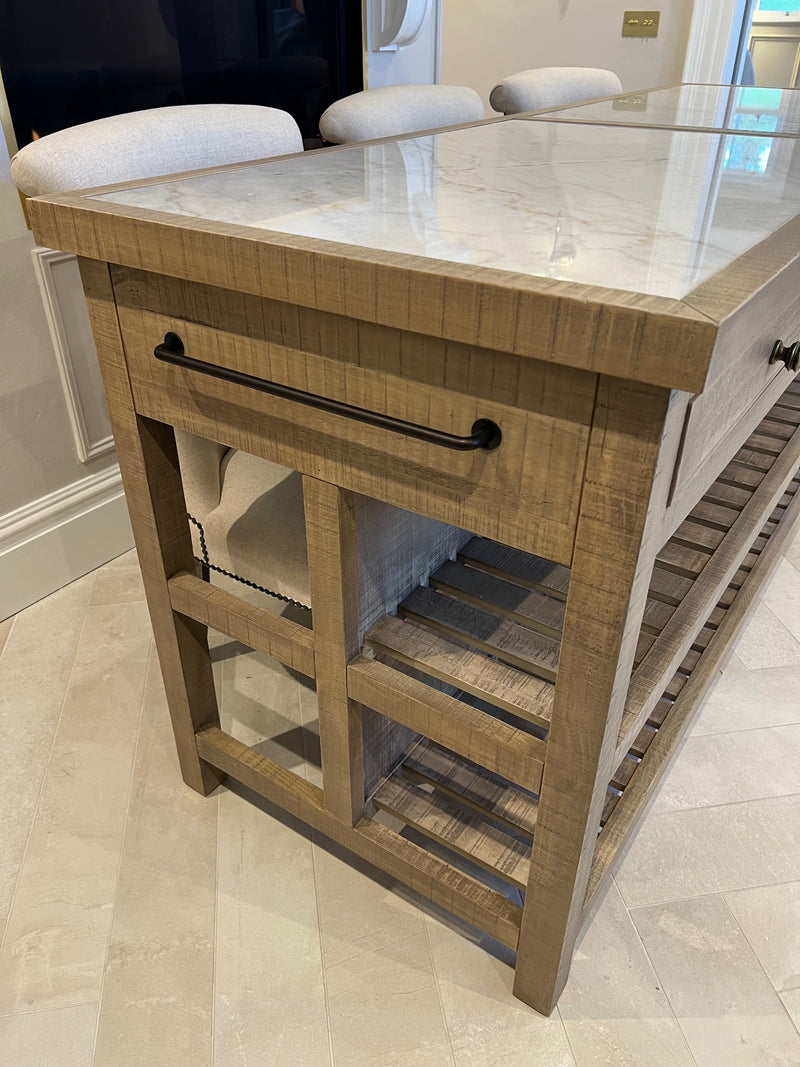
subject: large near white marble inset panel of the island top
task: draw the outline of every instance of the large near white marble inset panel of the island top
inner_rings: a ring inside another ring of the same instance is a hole
[[[798,143],[500,120],[95,195],[679,299],[798,213]]]

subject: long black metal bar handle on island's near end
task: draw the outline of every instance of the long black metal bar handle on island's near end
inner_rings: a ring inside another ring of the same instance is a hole
[[[486,451],[497,448],[502,440],[500,428],[490,418],[479,418],[473,423],[468,437],[459,437],[454,433],[445,433],[443,430],[431,430],[427,426],[417,426],[416,423],[405,423],[401,418],[393,418],[390,415],[381,415],[366,408],[354,408],[349,403],[341,403],[339,400],[330,400],[327,397],[318,396],[316,393],[304,393],[302,389],[292,388],[290,385],[281,385],[278,382],[268,382],[263,378],[256,378],[254,375],[245,375],[241,370],[228,370],[227,367],[220,367],[215,363],[204,363],[202,360],[193,360],[183,354],[183,341],[175,333],[164,335],[163,345],[157,345],[153,350],[157,360],[163,363],[172,363],[176,367],[186,367],[188,370],[197,370],[202,375],[209,375],[211,378],[221,378],[224,382],[234,382],[236,385],[245,385],[247,388],[257,389],[259,393],[269,393],[271,396],[283,397],[285,400],[295,400],[298,403],[306,404],[308,408],[318,408],[321,411],[332,412],[334,415],[343,415],[346,418],[353,418],[357,423],[366,423],[368,426],[378,426],[382,430],[391,430],[394,433],[403,433],[406,437],[416,437],[418,441],[427,441],[431,445],[442,445],[444,448],[453,448],[457,451],[468,452],[476,448],[483,448]]]

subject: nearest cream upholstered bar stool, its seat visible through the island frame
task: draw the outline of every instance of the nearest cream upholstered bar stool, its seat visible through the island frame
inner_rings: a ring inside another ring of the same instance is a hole
[[[185,105],[58,130],[21,148],[11,176],[20,192],[36,196],[302,150],[300,129],[285,111]],[[214,570],[307,602],[300,476],[179,430],[176,441],[195,555]],[[261,537],[259,551],[257,524],[267,516],[288,536]],[[270,558],[282,545],[288,554]]]

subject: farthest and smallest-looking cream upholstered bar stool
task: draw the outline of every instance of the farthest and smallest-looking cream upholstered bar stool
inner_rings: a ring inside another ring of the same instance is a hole
[[[503,115],[613,96],[622,82],[602,67],[537,67],[503,78],[492,90],[489,102]]]

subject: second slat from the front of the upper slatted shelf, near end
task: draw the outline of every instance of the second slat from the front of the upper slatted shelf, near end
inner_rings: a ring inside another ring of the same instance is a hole
[[[534,634],[508,619],[459,603],[433,589],[415,589],[398,611],[406,619],[489,652],[512,667],[549,682],[556,680],[559,642],[544,634]]]

